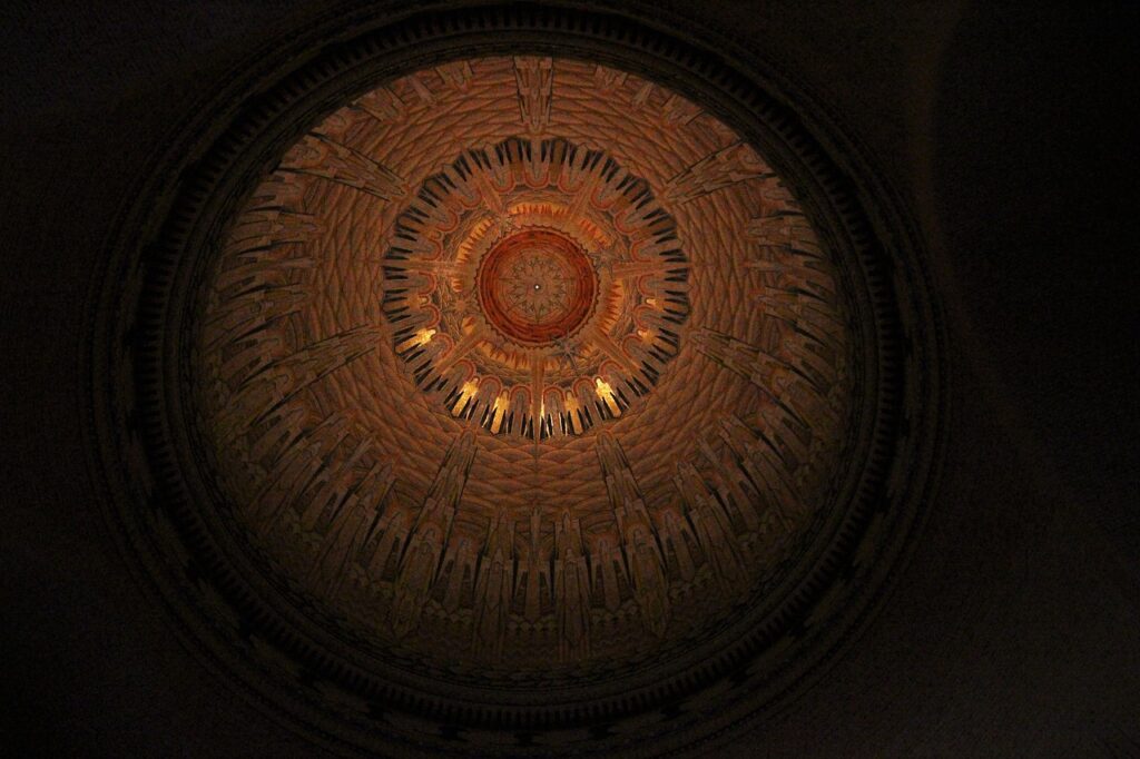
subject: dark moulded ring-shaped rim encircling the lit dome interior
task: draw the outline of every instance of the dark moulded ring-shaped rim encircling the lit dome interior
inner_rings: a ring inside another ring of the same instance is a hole
[[[341,751],[471,750],[471,741],[489,732],[496,752],[532,753],[543,748],[540,734],[555,740],[560,731],[592,725],[606,729],[587,731],[578,748],[666,751],[725,740],[787,703],[849,644],[921,527],[937,482],[946,372],[918,235],[841,130],[817,111],[808,117],[806,98],[793,108],[774,96],[792,88],[771,71],[758,73],[750,54],[699,26],[678,24],[690,28],[682,41],[626,17],[527,6],[376,24],[367,13],[331,15],[299,49],[266,56],[266,68],[234,77],[154,161],[146,191],[133,195],[148,199],[130,202],[117,220],[106,268],[92,278],[84,366],[87,430],[97,443],[91,466],[106,491],[112,530],[192,651],[269,713]],[[723,63],[728,51],[732,64]],[[182,348],[188,293],[206,258],[194,252],[210,247],[272,157],[351,93],[448,59],[510,52],[589,57],[650,80],[667,77],[803,190],[821,234],[857,270],[850,272],[860,291],[856,319],[872,375],[864,418],[874,425],[854,449],[858,476],[829,524],[825,548],[804,558],[814,571],[787,589],[779,609],[746,615],[744,622],[758,615],[763,625],[738,623],[718,640],[727,644],[717,656],[667,680],[536,708],[488,708],[471,694],[450,697],[376,677],[352,660],[350,642],[266,603],[274,591],[242,571],[241,552],[195,506],[221,496],[197,476],[194,441],[181,424],[192,372]],[[702,704],[699,694],[708,691],[719,696]],[[377,724],[385,726],[383,737]]]

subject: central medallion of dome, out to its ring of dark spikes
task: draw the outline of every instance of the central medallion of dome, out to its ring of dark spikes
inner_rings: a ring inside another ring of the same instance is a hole
[[[392,346],[491,434],[636,411],[681,349],[689,259],[649,182],[603,150],[511,138],[423,180],[384,254]]]

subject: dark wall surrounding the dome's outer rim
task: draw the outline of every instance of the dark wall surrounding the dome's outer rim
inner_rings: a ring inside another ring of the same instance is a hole
[[[148,157],[246,49],[318,10],[0,9],[0,746],[317,753],[181,647],[114,548],[79,356],[95,256]],[[943,482],[907,570],[736,753],[1140,756],[1137,11],[689,13],[755,39],[865,147],[927,238],[952,338]]]

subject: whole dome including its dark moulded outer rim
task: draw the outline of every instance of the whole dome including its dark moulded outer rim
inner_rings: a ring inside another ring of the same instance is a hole
[[[340,749],[676,750],[799,687],[933,456],[893,206],[633,22],[328,23],[106,278],[103,470],[179,622]]]

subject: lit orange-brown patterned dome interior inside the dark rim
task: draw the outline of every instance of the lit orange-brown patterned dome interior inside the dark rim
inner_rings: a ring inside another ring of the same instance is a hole
[[[234,528],[408,671],[668,662],[831,506],[848,296],[791,189],[659,83],[417,71],[290,147],[228,226],[193,398]]]

